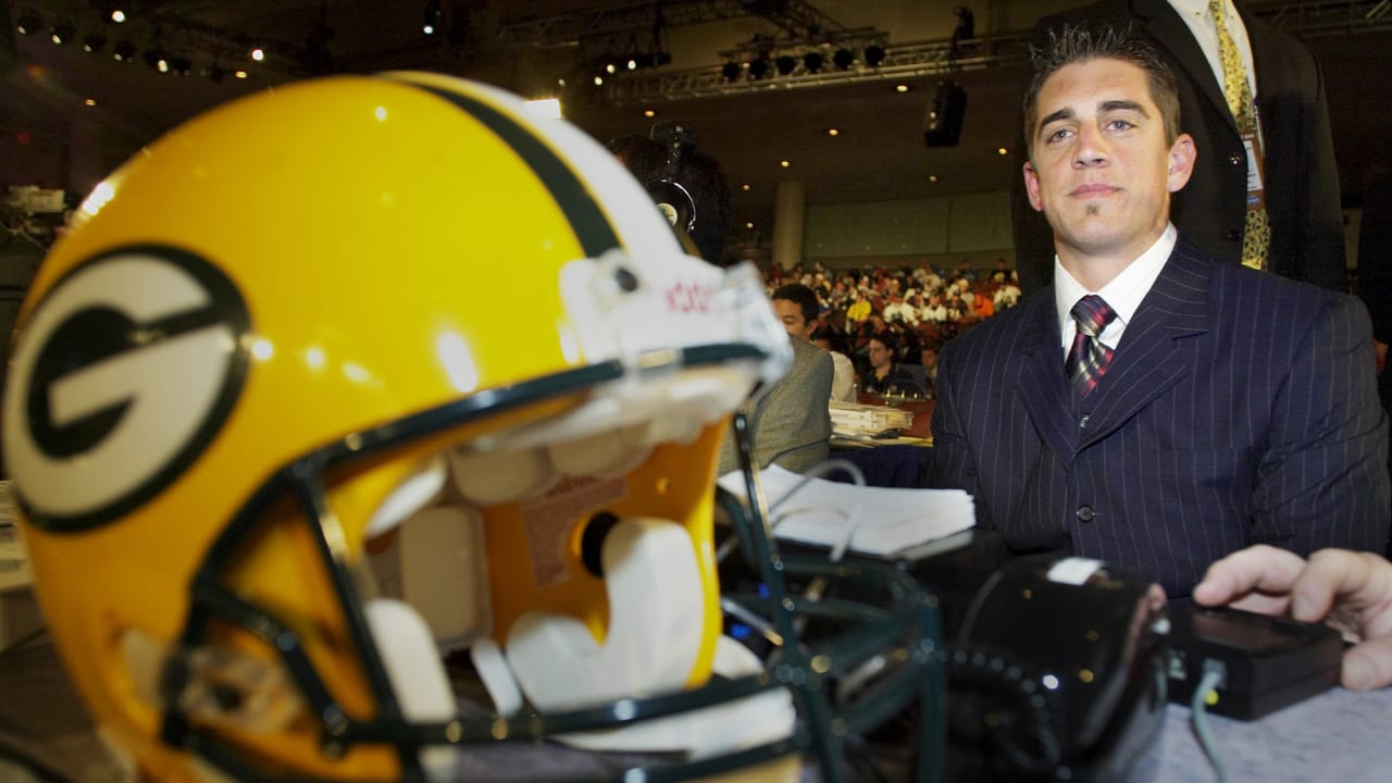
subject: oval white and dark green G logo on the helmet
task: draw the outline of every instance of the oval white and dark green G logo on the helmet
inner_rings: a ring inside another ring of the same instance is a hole
[[[249,330],[231,280],[175,248],[121,248],[60,280],[24,327],[4,398],[31,521],[102,525],[178,478],[241,393]]]

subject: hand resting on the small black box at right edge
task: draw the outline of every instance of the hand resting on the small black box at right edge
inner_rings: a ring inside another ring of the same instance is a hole
[[[1322,549],[1306,561],[1257,545],[1214,563],[1194,588],[1194,600],[1325,620],[1359,641],[1343,653],[1345,688],[1392,684],[1392,563],[1377,555]]]

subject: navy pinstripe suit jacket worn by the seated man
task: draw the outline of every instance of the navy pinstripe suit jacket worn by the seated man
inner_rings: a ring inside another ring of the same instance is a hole
[[[1015,553],[1097,557],[1189,596],[1265,542],[1384,552],[1388,421],[1353,297],[1183,240],[1077,401],[1052,288],[944,346],[931,486],[976,497]]]

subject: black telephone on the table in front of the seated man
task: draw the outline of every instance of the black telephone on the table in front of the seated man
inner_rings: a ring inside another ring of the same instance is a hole
[[[1118,780],[1164,726],[1168,616],[1148,580],[1016,560],[952,644],[954,780]]]

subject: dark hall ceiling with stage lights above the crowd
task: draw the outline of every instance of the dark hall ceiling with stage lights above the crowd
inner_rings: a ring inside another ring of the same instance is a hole
[[[611,79],[587,96],[565,95],[567,116],[600,141],[643,132],[656,120],[692,127],[725,169],[736,220],[763,227],[778,181],[789,178],[803,183],[809,203],[1008,189],[1013,150],[997,150],[1013,142],[1023,33],[1038,14],[1077,3],[965,3],[976,10],[977,40],[951,63],[942,54],[955,24],[949,1],[444,0],[444,29],[434,38],[422,32],[429,0],[142,0],[125,6],[132,17],[125,25],[102,21],[111,4],[8,0],[11,22],[35,17],[43,29],[14,38],[17,67],[0,95],[3,184],[85,189],[175,123],[313,72],[426,68],[533,96],[555,91],[560,75],[574,91],[579,64],[615,46],[643,49],[656,35],[674,54],[670,65]],[[1321,59],[1345,205],[1357,206],[1367,164],[1385,156],[1392,138],[1392,26],[1377,11],[1385,3],[1244,6],[1300,33]],[[658,14],[663,28],[654,33]],[[54,46],[47,29],[61,22],[74,25],[77,40]],[[86,35],[107,39],[100,53],[82,50]],[[856,63],[754,86],[711,78],[729,59],[722,53],[757,49],[746,46],[756,36],[788,52],[817,40],[880,42],[888,57],[880,68]],[[182,53],[192,74],[159,74],[139,56],[132,64],[114,61],[111,47],[124,39],[142,52],[159,42]],[[245,60],[252,42],[266,45],[264,63]],[[0,50],[0,64],[4,59]],[[232,78],[242,65],[251,78]],[[209,78],[214,67],[224,71],[221,81]],[[924,114],[944,78],[969,96],[962,141],[927,148]],[[96,106],[85,106],[88,98]],[[656,117],[643,116],[649,109]],[[832,127],[837,137],[827,134]]]

